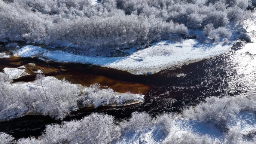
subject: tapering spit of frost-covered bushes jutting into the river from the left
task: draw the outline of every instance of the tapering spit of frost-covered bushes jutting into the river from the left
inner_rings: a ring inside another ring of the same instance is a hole
[[[33,83],[12,84],[6,74],[0,73],[0,121],[21,117],[25,113],[50,115],[63,119],[70,111],[87,106],[123,104],[143,100],[142,95],[117,94],[113,89],[74,85],[63,80],[49,79],[37,74]]]

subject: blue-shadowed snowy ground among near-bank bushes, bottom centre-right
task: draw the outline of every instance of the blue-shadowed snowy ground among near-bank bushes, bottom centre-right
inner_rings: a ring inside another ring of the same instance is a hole
[[[170,119],[170,121],[172,120]],[[176,143],[179,144],[182,143],[181,141],[186,141],[184,140],[184,135],[193,134],[198,134],[198,137],[191,136],[193,139],[200,139],[202,138],[200,136],[208,135],[210,136],[209,139],[212,140],[211,142],[214,139],[222,140],[224,138],[219,129],[207,123],[185,120],[183,118],[173,120],[171,123],[168,132],[158,123],[128,130],[121,136],[120,140],[113,142],[113,144],[169,144],[173,139],[176,139]],[[197,142],[199,143],[198,140]]]

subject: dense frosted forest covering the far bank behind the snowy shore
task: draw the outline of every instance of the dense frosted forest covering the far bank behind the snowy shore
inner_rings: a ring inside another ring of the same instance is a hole
[[[194,37],[189,30],[205,28],[212,28],[213,34],[204,34],[216,42],[230,36],[226,29],[230,22],[245,25],[251,16],[247,8],[255,4],[255,0],[101,0],[96,4],[91,0],[3,0],[0,42],[143,48],[162,39]]]

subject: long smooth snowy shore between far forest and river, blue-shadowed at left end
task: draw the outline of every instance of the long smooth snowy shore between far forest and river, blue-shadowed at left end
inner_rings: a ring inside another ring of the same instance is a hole
[[[128,71],[132,74],[157,73],[165,68],[173,68],[204,58],[227,52],[232,45],[200,43],[195,39],[183,43],[162,40],[146,49],[138,50],[124,57],[90,57],[76,55],[60,50],[50,51],[38,46],[23,46],[14,55],[21,57],[40,57],[57,62],[76,62]]]

